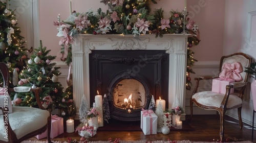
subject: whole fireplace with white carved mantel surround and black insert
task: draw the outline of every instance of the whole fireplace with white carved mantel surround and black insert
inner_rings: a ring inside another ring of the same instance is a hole
[[[180,105],[184,107],[187,36],[187,34],[165,34],[163,38],[155,38],[155,35],[148,34],[140,35],[135,39],[133,35],[81,34],[76,37],[72,45],[72,61],[73,95],[77,115],[79,115],[82,95],[86,95],[88,104],[92,106],[97,90],[102,96],[108,95],[108,100],[112,103],[110,105],[113,111],[112,117],[123,121],[134,116],[139,120],[137,113],[141,108],[148,107],[152,95],[155,100],[159,97],[165,99],[166,108],[172,107],[175,96],[178,96]],[[125,53],[124,56],[118,57],[122,53]],[[152,61],[160,59],[156,63],[149,64],[149,66],[161,64],[161,68],[154,68],[159,70],[153,72],[154,76],[151,75],[152,73],[148,75],[154,77],[153,81],[151,78],[145,78],[143,74],[152,69],[139,66],[144,64],[145,61],[141,62],[140,59],[143,56],[145,58],[145,55]],[[95,64],[96,61],[100,62],[100,66]],[[162,63],[163,61],[165,62]],[[93,62],[95,65],[92,64]],[[115,65],[117,63],[119,65]],[[114,67],[102,69],[111,64]],[[115,68],[121,66],[125,68],[115,72]],[[137,72],[138,69],[142,72]],[[95,75],[92,76],[92,73]],[[157,76],[160,78],[157,79]],[[126,83],[131,82],[136,85],[136,89],[134,91],[130,89],[131,93],[126,93],[124,88],[131,87],[131,84]],[[117,88],[123,89],[117,90]],[[133,98],[129,103],[131,94]],[[128,100],[127,103],[121,101],[125,98]],[[132,102],[135,105],[130,106]]]

